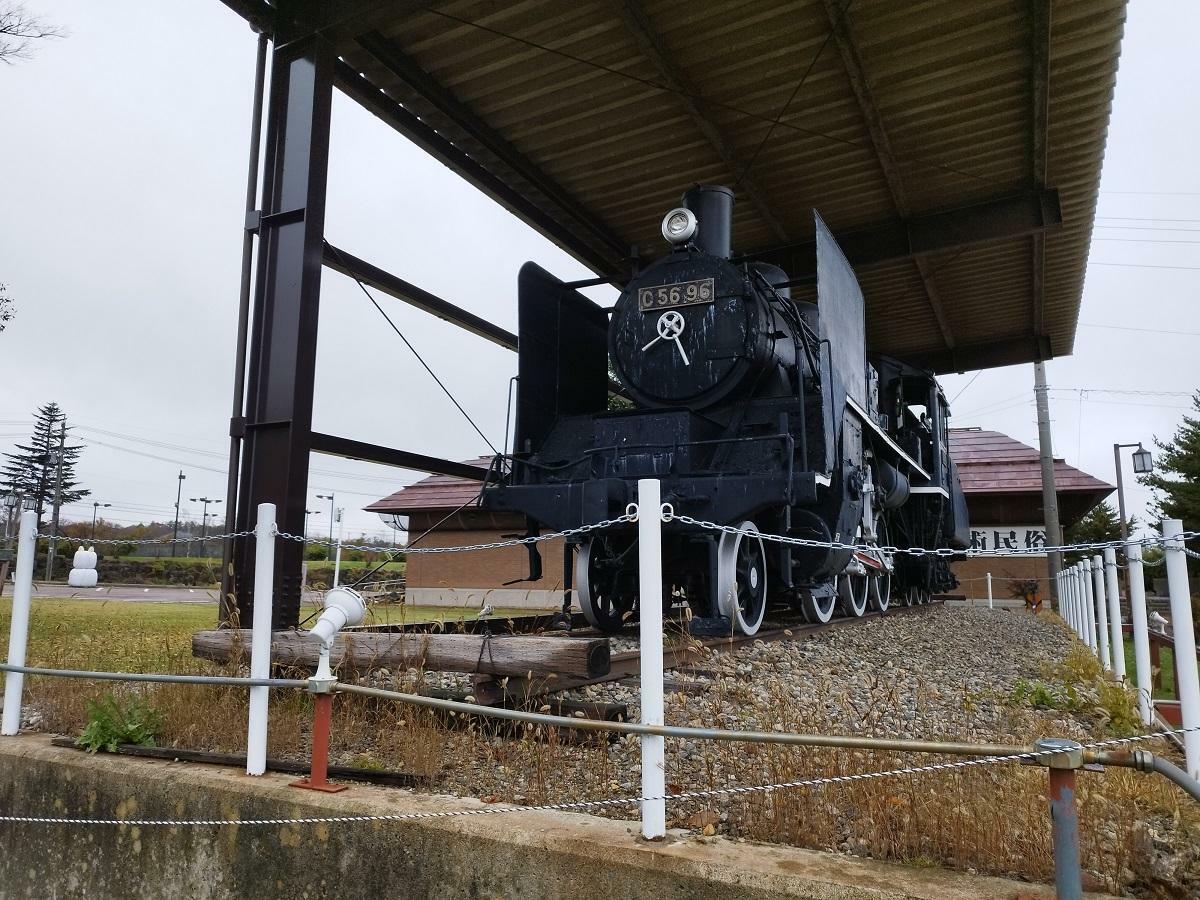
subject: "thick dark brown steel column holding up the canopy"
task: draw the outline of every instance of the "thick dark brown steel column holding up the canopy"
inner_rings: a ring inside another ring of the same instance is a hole
[[[302,534],[336,55],[319,35],[277,41],[276,47],[236,522],[238,530],[251,529],[258,504],[274,503],[280,529]],[[275,596],[254,598],[253,546],[245,538],[238,541],[241,622],[250,622],[258,599],[272,604],[275,629],[296,625],[302,546],[281,541],[276,550]]]

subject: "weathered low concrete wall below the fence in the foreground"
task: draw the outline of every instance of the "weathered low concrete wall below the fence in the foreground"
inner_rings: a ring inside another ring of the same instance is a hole
[[[0,738],[0,810],[97,818],[271,818],[479,809],[478,800],[354,785],[288,787],[282,775]],[[5,898],[720,898],[1025,900],[1046,886],[911,869],[672,833],[568,812],[415,822],[126,827],[0,823]],[[1088,895],[1097,896],[1097,895]]]

